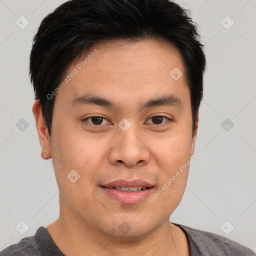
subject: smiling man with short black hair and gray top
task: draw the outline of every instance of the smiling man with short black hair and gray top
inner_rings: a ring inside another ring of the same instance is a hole
[[[169,223],[194,155],[202,48],[168,0],[71,0],[42,20],[32,109],[60,213],[0,255],[254,255]]]

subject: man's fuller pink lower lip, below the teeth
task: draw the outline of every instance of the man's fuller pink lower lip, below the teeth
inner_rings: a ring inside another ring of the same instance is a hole
[[[117,190],[114,188],[107,188],[107,187],[101,187],[104,189],[104,191],[107,193],[108,196],[111,198],[116,199],[117,201],[121,203],[138,203],[149,196],[149,194],[152,192],[153,187],[134,191],[134,192],[126,192]]]

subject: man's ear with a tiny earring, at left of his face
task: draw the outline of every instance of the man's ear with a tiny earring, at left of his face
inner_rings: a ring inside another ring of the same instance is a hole
[[[39,104],[39,100],[35,100],[33,103],[32,111],[34,114],[35,125],[39,136],[39,142],[41,145],[41,157],[43,159],[51,158],[50,152],[50,136],[48,128],[46,127],[45,119],[42,116],[42,108]]]

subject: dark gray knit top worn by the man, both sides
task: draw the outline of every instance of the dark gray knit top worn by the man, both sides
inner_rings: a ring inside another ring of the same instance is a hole
[[[189,256],[255,256],[249,248],[224,236],[177,223],[188,240]],[[34,236],[22,238],[0,252],[0,256],[65,256],[52,240],[47,229],[40,226]]]

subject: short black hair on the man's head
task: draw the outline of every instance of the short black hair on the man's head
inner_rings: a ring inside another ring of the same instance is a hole
[[[159,38],[181,53],[190,91],[193,130],[203,95],[204,45],[189,10],[169,0],[69,0],[43,18],[33,38],[30,80],[49,135],[54,97],[66,68],[100,40]]]

